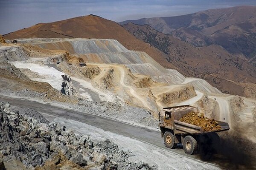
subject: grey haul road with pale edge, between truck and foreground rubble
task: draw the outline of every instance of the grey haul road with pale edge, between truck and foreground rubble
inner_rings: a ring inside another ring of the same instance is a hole
[[[31,108],[35,111],[39,111],[44,115],[48,115],[48,119],[53,117],[53,120],[63,122],[67,127],[70,127],[70,123],[72,123],[72,127],[75,128],[77,126],[77,131],[83,132],[86,130],[88,134],[93,133],[94,136],[103,137],[108,137],[108,135],[112,134],[112,140],[116,140],[117,143],[121,143],[123,146],[125,146],[125,144],[128,145],[126,147],[133,152],[137,160],[145,159],[145,161],[151,162],[151,164],[157,164],[159,169],[221,169],[217,164],[201,161],[198,156],[187,156],[183,152],[183,149],[167,150],[163,145],[160,132],[155,130],[149,130],[143,127],[117,122],[102,116],[58,108],[49,104],[26,99],[0,96],[0,101],[10,102],[10,104],[15,107]],[[120,141],[123,139],[125,139],[124,142]],[[134,148],[137,150],[134,150]],[[136,157],[137,155],[139,157]],[[169,163],[162,164],[163,160]]]

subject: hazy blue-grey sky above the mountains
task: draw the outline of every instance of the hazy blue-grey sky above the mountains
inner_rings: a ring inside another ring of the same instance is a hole
[[[88,14],[120,22],[239,5],[256,0],[0,0],[0,34]]]

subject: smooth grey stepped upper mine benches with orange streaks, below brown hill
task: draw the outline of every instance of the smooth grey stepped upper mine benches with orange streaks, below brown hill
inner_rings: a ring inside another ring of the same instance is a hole
[[[169,85],[184,84],[186,78],[174,69],[163,68],[148,54],[141,51],[130,51],[117,40],[111,39],[18,39],[17,42],[29,43],[41,48],[66,50],[71,54],[95,63],[117,63],[126,65],[133,74],[150,75],[154,81]],[[196,90],[208,93],[221,93],[203,79],[189,81]]]

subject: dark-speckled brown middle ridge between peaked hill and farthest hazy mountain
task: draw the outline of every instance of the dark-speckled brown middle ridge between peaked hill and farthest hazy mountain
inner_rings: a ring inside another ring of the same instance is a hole
[[[246,60],[229,54],[218,45],[194,47],[148,25],[128,23],[123,26],[138,39],[166,53],[168,61],[175,63],[186,74],[206,79],[222,92],[250,97],[247,91],[253,88],[236,83],[256,82],[256,68]]]

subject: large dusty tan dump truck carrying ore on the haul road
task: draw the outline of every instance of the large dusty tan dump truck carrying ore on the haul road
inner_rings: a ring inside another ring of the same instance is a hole
[[[159,127],[166,147],[173,149],[177,146],[183,146],[185,153],[192,155],[198,153],[201,145],[206,138],[212,140],[212,143],[220,142],[218,132],[229,130],[228,123],[217,121],[221,126],[220,130],[204,131],[202,127],[179,121],[185,114],[190,112],[197,113],[199,108],[182,105],[169,108],[163,108],[159,113]],[[213,141],[215,140],[215,141]]]

